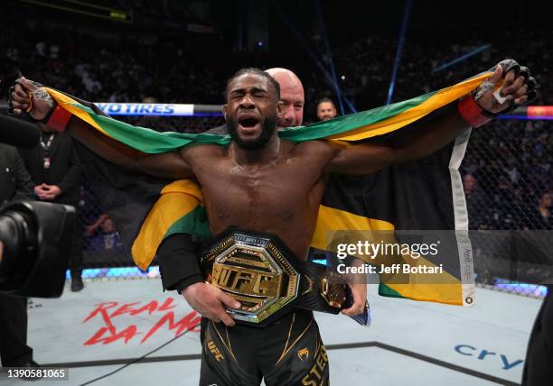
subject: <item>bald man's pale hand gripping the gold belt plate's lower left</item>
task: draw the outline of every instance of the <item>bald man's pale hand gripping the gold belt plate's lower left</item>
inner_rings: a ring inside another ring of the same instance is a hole
[[[186,287],[183,290],[183,297],[202,317],[207,317],[214,322],[223,322],[227,326],[235,325],[226,307],[239,308],[239,301],[210,283],[195,283]]]

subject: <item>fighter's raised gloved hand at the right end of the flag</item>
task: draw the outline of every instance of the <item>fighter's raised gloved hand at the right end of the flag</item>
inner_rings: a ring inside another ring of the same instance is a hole
[[[498,84],[501,84],[500,97],[505,98],[503,103],[493,96]],[[530,69],[521,67],[515,60],[502,60],[495,66],[492,77],[475,90],[474,100],[484,110],[499,114],[534,99],[536,86],[536,79],[530,77]]]

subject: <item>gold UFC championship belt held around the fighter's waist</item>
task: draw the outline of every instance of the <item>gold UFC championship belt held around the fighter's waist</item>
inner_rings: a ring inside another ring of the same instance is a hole
[[[341,275],[297,259],[273,234],[230,228],[202,253],[206,280],[237,299],[230,316],[250,326],[267,326],[294,308],[338,314],[353,303]],[[369,305],[353,317],[369,323]]]

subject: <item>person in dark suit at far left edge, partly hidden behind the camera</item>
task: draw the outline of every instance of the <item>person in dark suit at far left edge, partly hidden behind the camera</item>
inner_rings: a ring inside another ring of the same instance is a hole
[[[0,143],[0,207],[33,199],[33,183],[13,146]],[[0,293],[0,359],[4,367],[37,367],[27,345],[27,298]]]

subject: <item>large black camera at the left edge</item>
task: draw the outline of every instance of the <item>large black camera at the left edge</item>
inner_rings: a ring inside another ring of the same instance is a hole
[[[58,298],[77,226],[73,207],[40,201],[14,202],[0,211],[0,292]]]

